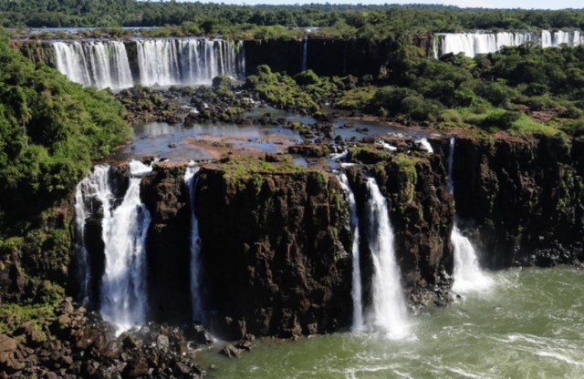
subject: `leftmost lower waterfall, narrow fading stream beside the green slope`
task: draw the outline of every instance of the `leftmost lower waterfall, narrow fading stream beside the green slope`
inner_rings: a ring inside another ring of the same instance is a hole
[[[79,279],[79,302],[91,303],[91,267],[89,252],[85,245],[85,223],[100,207],[107,207],[113,194],[110,190],[110,166],[96,166],[89,176],[81,180],[75,193],[75,226],[77,230],[77,256]]]

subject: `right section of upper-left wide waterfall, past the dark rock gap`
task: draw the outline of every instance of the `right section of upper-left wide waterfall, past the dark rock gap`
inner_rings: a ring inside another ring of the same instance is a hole
[[[171,38],[136,41],[143,86],[210,84],[214,77],[242,77],[243,42]]]

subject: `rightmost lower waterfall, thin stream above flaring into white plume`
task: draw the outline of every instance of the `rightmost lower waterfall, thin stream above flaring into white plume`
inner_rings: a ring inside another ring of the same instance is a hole
[[[454,196],[454,138],[450,138],[447,165],[448,191]],[[481,271],[474,246],[460,232],[456,225],[456,220],[454,220],[454,228],[450,238],[454,246],[453,291],[458,293],[484,291],[491,287],[491,278]]]

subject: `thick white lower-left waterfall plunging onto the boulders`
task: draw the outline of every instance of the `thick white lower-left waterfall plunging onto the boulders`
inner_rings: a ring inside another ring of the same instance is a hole
[[[151,217],[140,199],[140,183],[150,171],[151,167],[131,161],[130,185],[120,205],[114,209],[110,201],[103,202],[101,237],[106,262],[100,312],[119,333],[146,320],[145,244]]]

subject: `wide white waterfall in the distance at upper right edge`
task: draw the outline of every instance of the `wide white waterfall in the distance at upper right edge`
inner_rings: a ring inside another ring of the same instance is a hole
[[[579,46],[584,43],[584,35],[579,30],[550,32],[476,32],[476,33],[438,33],[434,36],[433,55],[438,58],[449,53],[464,53],[474,57],[477,54],[494,53],[504,46],[520,46],[533,42],[542,47],[555,47],[562,44]]]

